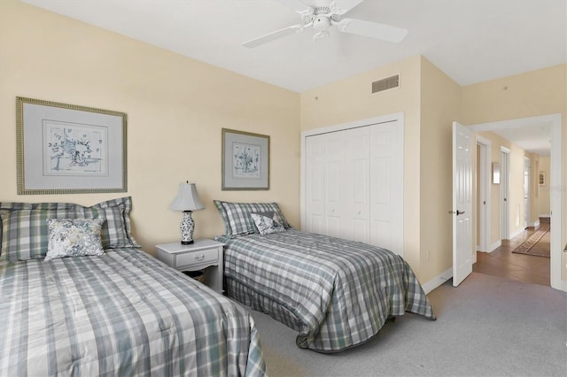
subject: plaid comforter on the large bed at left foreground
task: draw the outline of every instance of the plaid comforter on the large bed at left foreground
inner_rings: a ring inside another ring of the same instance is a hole
[[[0,265],[0,376],[263,375],[229,298],[136,249]]]

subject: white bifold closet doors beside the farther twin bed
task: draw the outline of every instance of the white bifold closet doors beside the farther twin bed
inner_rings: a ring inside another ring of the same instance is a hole
[[[398,121],[306,137],[307,232],[403,251]]]

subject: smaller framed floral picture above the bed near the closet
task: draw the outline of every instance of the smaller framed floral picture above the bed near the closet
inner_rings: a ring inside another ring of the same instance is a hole
[[[269,136],[222,128],[222,189],[269,189]]]

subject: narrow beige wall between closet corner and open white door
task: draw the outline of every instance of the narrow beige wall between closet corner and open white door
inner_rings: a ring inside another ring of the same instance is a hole
[[[420,279],[430,281],[453,263],[453,121],[461,112],[461,87],[421,61]],[[476,246],[476,245],[473,245]]]

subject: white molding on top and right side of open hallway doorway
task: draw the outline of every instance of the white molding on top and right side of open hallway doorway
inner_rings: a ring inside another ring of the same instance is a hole
[[[567,291],[567,281],[562,281],[562,156],[563,156],[563,116],[561,113],[540,115],[535,117],[509,119],[496,122],[471,125],[474,132],[496,131],[501,129],[533,127],[536,124],[548,124],[551,126],[551,261],[550,283],[551,288]]]

